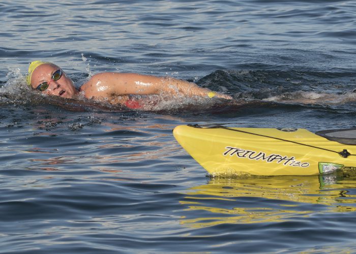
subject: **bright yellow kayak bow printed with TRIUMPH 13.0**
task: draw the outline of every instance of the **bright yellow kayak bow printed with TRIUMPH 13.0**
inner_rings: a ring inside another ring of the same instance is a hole
[[[356,145],[305,129],[180,125],[173,135],[212,175],[317,175],[356,166]]]

